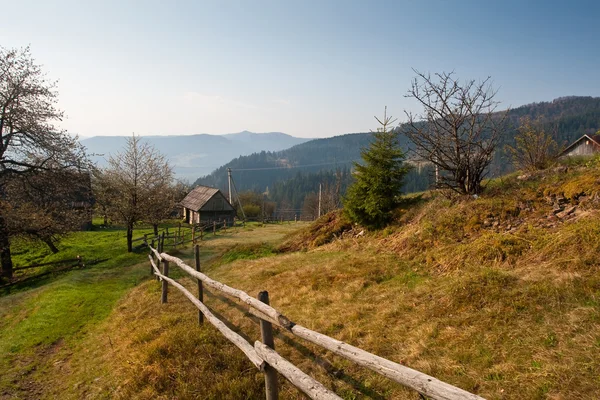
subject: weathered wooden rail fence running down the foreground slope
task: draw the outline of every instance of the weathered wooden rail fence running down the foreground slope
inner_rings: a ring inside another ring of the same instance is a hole
[[[432,376],[296,324],[269,305],[267,292],[260,292],[258,298],[255,299],[241,290],[209,278],[200,270],[198,245],[194,247],[195,268],[190,267],[181,259],[163,252],[162,243],[158,244],[158,249],[155,249],[151,245],[148,246],[150,247],[148,258],[151,264],[151,273],[162,281],[161,303],[167,302],[169,285],[180,290],[198,308],[199,323],[203,323],[204,319],[206,319],[214,325],[248,357],[256,368],[264,372],[267,400],[278,398],[277,372],[312,399],[340,399],[335,393],[302,372],[275,351],[272,334],[273,325],[281,327],[294,336],[321,346],[358,365],[369,368],[406,387],[414,389],[421,396],[427,396],[436,400],[483,400],[482,397],[442,382]],[[171,264],[176,265],[191,277],[196,278],[198,296],[193,295],[183,285],[169,278],[169,267]],[[246,339],[215,317],[203,303],[204,285],[247,305],[249,307],[248,312],[260,319],[262,342],[255,341],[254,345],[251,345]]]

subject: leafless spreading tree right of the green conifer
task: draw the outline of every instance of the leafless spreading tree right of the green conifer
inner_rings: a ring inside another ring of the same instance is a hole
[[[440,170],[438,187],[480,193],[508,112],[495,113],[499,102],[491,78],[460,82],[454,73],[415,73],[406,97],[416,99],[423,113],[407,112],[402,133],[414,143],[417,158]]]

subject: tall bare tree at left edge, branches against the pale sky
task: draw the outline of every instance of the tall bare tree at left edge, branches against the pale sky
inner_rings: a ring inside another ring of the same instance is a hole
[[[7,189],[13,179],[46,171],[86,167],[76,138],[58,130],[63,118],[56,107],[56,82],[48,81],[29,48],[0,47],[0,263],[1,276],[12,277],[6,210],[16,210]]]

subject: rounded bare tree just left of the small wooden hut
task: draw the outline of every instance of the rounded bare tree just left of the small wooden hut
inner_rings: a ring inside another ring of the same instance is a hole
[[[148,220],[151,210],[161,202],[161,191],[173,180],[173,171],[163,155],[139,136],[127,140],[124,151],[109,157],[100,184],[105,192],[116,193],[111,199],[108,214],[112,220],[127,228],[127,251],[133,250],[135,224]],[[171,201],[165,195],[169,205]]]

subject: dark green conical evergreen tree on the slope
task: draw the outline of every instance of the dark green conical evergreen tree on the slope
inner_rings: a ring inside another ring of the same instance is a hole
[[[409,167],[403,162],[398,134],[390,129],[395,120],[387,116],[387,107],[383,120],[375,119],[381,127],[373,133],[373,143],[361,153],[364,164],[354,163],[355,181],[348,188],[344,210],[353,222],[379,228],[390,222],[392,211],[399,205]]]

